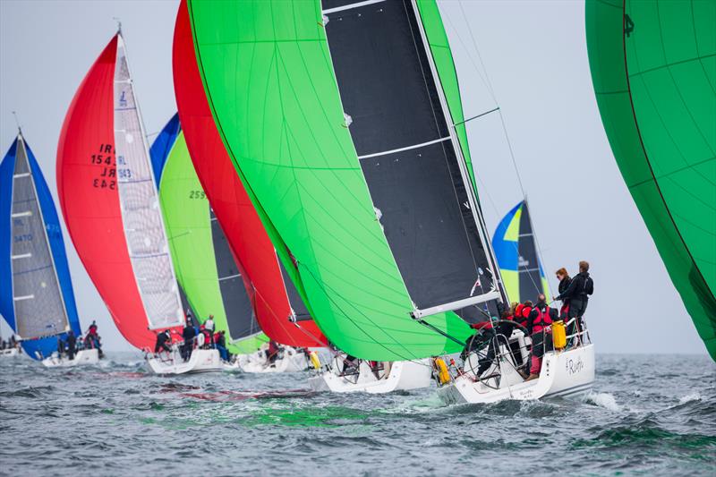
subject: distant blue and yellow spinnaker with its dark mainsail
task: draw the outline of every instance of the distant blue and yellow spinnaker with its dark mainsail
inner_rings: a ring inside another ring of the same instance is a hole
[[[499,222],[492,235],[492,248],[510,302],[537,302],[539,294],[549,299],[550,284],[540,262],[527,200]]]

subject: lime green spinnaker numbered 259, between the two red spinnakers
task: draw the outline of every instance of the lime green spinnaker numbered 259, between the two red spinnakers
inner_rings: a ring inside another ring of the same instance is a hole
[[[217,330],[226,331],[230,353],[252,353],[268,337],[260,333],[234,340],[219,288],[211,234],[209,201],[192,166],[183,132],[179,132],[166,158],[159,183],[159,200],[169,236],[176,278],[200,320],[214,315]]]

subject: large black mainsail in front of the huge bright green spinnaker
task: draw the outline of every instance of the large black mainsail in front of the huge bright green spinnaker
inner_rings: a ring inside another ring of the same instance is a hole
[[[346,124],[413,302],[427,309],[489,292],[489,260],[412,3],[323,6]],[[457,312],[482,316],[474,306]]]

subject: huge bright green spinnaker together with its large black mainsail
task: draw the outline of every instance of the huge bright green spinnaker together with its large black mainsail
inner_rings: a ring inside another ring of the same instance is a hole
[[[188,11],[217,130],[321,330],[373,360],[461,350],[506,296],[437,4]]]

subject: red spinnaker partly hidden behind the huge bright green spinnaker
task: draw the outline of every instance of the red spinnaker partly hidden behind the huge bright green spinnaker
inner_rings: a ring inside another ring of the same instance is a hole
[[[234,170],[211,116],[196,64],[186,1],[179,5],[174,36],[176,104],[184,137],[199,180],[207,192],[229,244],[255,291],[256,319],[264,333],[290,346],[325,346],[326,337],[312,320],[299,329],[288,321],[291,305],[273,244]]]

